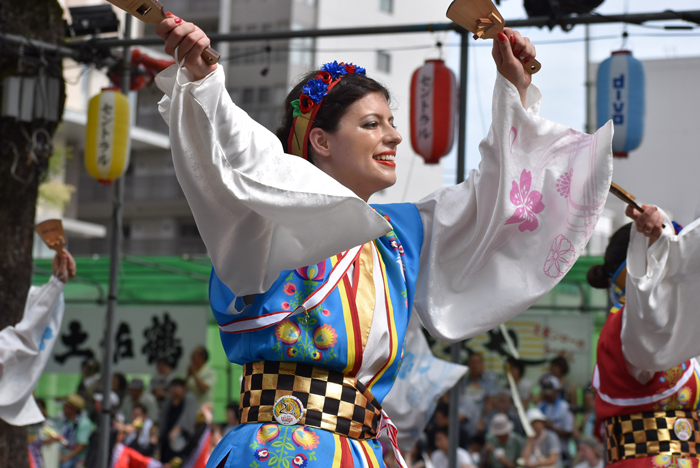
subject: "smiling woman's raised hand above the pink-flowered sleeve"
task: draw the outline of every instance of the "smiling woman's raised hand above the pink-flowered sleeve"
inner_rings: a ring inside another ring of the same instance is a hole
[[[518,31],[503,28],[503,32],[499,33],[493,41],[492,55],[499,73],[518,89],[524,106],[532,75],[525,71],[521,59],[525,63],[534,59],[535,46],[530,44],[530,39],[523,37]]]

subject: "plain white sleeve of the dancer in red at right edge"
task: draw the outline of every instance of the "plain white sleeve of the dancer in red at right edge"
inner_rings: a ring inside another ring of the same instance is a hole
[[[675,235],[666,216],[662,236],[632,227],[627,251],[622,350],[628,363],[654,373],[700,355],[700,220]]]

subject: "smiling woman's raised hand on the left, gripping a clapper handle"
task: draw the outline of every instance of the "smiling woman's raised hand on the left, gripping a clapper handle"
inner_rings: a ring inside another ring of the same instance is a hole
[[[216,70],[216,64],[207,63],[202,58],[202,51],[211,44],[204,31],[170,12],[166,13],[166,16],[167,18],[156,26],[156,34],[165,41],[165,52],[172,55],[178,63],[186,56],[184,66],[195,80],[201,80]]]

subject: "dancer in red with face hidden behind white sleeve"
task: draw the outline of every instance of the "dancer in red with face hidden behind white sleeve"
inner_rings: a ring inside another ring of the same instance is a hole
[[[614,304],[598,341],[596,414],[607,464],[697,467],[698,223],[679,235],[668,219],[662,229],[656,207],[643,208],[627,208],[634,227],[620,228],[588,273]]]

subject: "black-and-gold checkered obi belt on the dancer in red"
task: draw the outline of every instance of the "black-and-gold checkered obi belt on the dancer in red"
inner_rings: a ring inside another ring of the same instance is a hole
[[[697,457],[698,414],[660,411],[613,416],[605,420],[608,463],[659,454]]]

